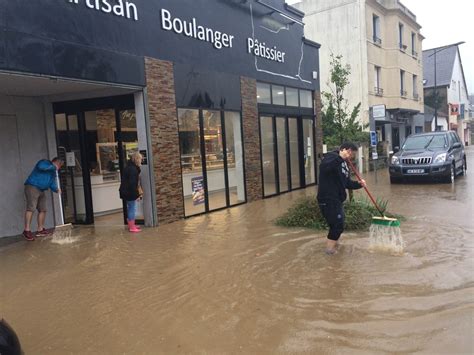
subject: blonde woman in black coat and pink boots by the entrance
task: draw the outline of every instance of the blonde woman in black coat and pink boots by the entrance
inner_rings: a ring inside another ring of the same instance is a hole
[[[127,162],[120,183],[120,198],[127,202],[127,223],[128,230],[132,233],[140,232],[141,229],[135,225],[135,215],[137,212],[137,200],[142,198],[140,188],[140,166],[142,165],[142,155],[133,153]]]

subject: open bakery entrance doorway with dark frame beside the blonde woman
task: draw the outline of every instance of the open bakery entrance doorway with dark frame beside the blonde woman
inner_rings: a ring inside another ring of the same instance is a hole
[[[53,108],[58,156],[66,162],[60,171],[65,222],[123,224],[121,172],[138,150],[133,95],[61,102]],[[140,211],[137,222],[143,222]]]

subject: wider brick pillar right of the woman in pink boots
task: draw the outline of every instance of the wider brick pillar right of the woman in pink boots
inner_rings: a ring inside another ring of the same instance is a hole
[[[184,217],[173,63],[145,58],[158,223]]]

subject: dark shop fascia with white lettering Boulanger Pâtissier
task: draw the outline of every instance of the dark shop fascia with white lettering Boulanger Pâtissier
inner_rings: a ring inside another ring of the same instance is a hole
[[[4,24],[9,35],[2,38],[0,70],[146,86],[147,57],[203,73],[319,89],[319,45],[304,37],[303,15],[283,0],[0,2],[0,17],[15,18]],[[18,16],[18,9],[28,11]],[[38,33],[42,48],[67,43],[55,51],[54,66],[30,45]],[[70,58],[90,60],[84,66]]]

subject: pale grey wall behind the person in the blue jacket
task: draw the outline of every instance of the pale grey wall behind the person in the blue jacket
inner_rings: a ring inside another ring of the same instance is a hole
[[[41,99],[0,96],[0,237],[18,235],[23,231],[23,184],[38,160],[53,158],[48,154],[46,136]],[[50,211],[46,225],[52,227],[52,197],[50,192],[46,195]],[[34,220],[32,229],[35,228]]]

